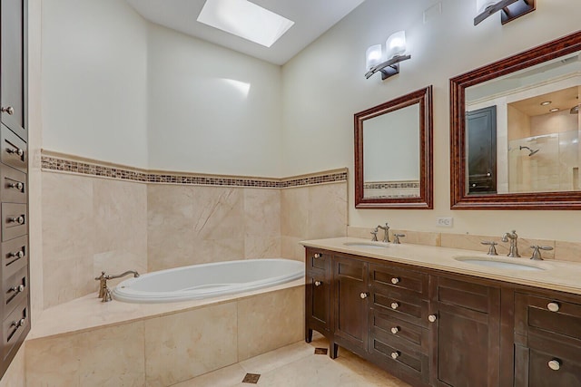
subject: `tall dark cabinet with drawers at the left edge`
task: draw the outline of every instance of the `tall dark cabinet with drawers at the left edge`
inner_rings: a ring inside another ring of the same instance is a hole
[[[0,378],[30,331],[25,0],[0,2]]]

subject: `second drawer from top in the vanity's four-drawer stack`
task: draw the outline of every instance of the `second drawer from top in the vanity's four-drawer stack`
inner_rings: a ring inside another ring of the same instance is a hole
[[[387,286],[369,287],[371,307],[399,320],[420,326],[428,325],[428,300],[417,294]]]

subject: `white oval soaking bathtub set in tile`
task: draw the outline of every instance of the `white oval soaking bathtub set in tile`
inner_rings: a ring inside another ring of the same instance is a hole
[[[113,299],[172,303],[280,285],[302,276],[303,262],[282,258],[182,266],[126,279],[113,288]]]

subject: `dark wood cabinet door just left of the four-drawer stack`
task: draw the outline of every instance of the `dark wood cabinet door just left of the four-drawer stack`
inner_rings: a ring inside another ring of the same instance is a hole
[[[368,335],[368,264],[343,256],[333,257],[335,285],[335,341],[363,353]]]

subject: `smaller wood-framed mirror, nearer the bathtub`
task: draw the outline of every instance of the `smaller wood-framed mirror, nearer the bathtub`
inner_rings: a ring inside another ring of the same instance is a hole
[[[432,86],[354,116],[355,208],[433,208]]]

